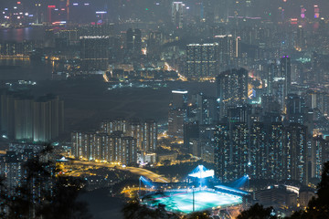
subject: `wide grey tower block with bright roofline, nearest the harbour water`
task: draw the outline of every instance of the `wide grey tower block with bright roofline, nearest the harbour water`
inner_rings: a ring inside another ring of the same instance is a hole
[[[109,36],[80,36],[81,68],[88,71],[106,70],[109,65]]]

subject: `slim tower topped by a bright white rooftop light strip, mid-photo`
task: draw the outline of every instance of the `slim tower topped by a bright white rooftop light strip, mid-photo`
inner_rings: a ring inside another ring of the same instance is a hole
[[[187,93],[187,90],[172,90],[172,101],[169,104],[168,135],[179,139],[184,138]]]

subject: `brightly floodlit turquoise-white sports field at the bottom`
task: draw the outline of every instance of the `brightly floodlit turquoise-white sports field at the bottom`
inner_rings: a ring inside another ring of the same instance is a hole
[[[175,213],[189,214],[193,212],[192,192],[164,192],[154,194],[143,200],[151,206],[164,204],[165,210]],[[213,207],[227,207],[242,203],[242,197],[228,193],[216,193],[210,191],[195,192],[195,211],[204,211]]]

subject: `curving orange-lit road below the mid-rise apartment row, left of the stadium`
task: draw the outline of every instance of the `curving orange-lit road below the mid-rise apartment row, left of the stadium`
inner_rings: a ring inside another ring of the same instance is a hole
[[[167,179],[165,179],[163,176],[156,174],[155,172],[151,172],[151,171],[148,171],[148,170],[145,170],[142,168],[138,168],[138,167],[121,167],[120,165],[114,165],[114,164],[110,164],[110,163],[83,162],[83,161],[73,161],[73,164],[101,166],[101,167],[107,167],[107,168],[116,167],[117,169],[122,170],[122,171],[129,171],[136,175],[142,175],[156,183],[169,183],[169,181]]]

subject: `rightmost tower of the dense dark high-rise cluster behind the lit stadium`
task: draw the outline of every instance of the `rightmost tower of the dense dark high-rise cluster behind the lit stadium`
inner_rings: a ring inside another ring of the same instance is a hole
[[[283,178],[307,183],[307,127],[290,124],[284,129]]]

